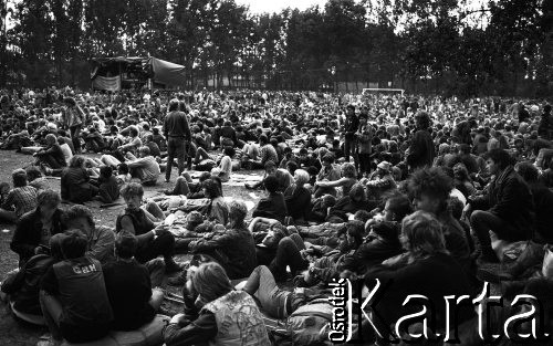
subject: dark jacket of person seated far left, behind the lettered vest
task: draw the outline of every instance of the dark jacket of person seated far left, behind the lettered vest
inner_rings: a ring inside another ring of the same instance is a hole
[[[52,218],[51,235],[62,233],[65,230],[62,224],[62,211],[58,209]],[[42,237],[42,222],[40,219],[40,210],[36,208],[23,214],[15,227],[10,249],[19,254],[22,262],[34,255],[34,249],[40,243]]]

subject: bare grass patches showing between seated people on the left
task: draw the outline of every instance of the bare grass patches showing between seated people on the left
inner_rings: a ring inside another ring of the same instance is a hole
[[[11,185],[11,172],[17,168],[22,168],[27,165],[32,164],[33,157],[29,155],[17,154],[13,151],[0,151],[0,181],[9,181]],[[175,169],[171,175],[171,181],[165,184],[163,178],[158,186],[145,187],[146,193],[152,195],[157,191],[169,188],[174,185],[177,176],[177,170]],[[49,185],[52,189],[60,191],[60,180],[55,178],[49,178]],[[259,191],[255,192],[258,196]],[[251,195],[250,191],[246,190],[243,187],[238,186],[223,186],[223,195],[226,197],[231,197],[232,199],[250,200],[255,201],[255,197]],[[63,206],[62,206],[63,208]],[[117,214],[122,211],[121,208],[91,208],[96,224],[105,224],[109,227],[115,227],[115,219]],[[18,266],[18,256],[10,250],[10,241],[13,235],[14,230],[13,224],[1,224],[0,223],[0,281],[3,280],[6,274]],[[178,289],[171,289],[174,293],[178,293]],[[170,305],[170,304],[168,304]],[[171,311],[178,308],[178,306],[165,306],[166,310]],[[33,327],[30,325],[23,325],[18,323],[11,316],[9,310],[0,304],[0,345],[10,346],[28,346],[36,345],[39,337],[46,333],[48,329],[41,327]]]

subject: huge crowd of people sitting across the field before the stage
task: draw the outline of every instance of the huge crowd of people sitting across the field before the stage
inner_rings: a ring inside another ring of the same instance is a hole
[[[553,332],[546,101],[21,88],[0,92],[0,149],[34,157],[0,184],[19,256],[2,291],[17,316],[49,327],[41,345],[137,329],[167,285],[182,286],[184,307],[159,342],[270,345],[284,336],[263,317],[316,311],[340,279],[387,284],[373,306],[379,325],[358,322],[366,343],[386,344],[376,327],[417,311],[404,304],[409,294],[439,305],[414,327],[444,335],[444,297],[474,297],[484,282],[505,300],[535,296],[538,334]],[[263,192],[253,208],[223,196],[240,170],[259,170],[240,186]],[[170,188],[144,200],[164,172]],[[45,176],[61,178],[60,192]],[[107,224],[83,205],[121,199],[125,210]],[[484,338],[523,308],[504,306]],[[478,318],[472,305],[457,314],[463,337],[478,339]],[[327,342],[323,334],[299,344]]]

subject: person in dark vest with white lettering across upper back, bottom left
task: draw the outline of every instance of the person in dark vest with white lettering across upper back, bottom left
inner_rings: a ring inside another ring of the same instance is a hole
[[[83,232],[70,230],[61,241],[64,260],[41,281],[40,304],[52,334],[50,345],[87,343],[107,335],[113,311],[105,290],[102,264],[86,253]]]

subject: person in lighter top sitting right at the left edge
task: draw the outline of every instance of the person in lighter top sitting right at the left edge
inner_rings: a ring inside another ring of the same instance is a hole
[[[15,169],[11,174],[13,189],[11,189],[0,208],[0,220],[15,222],[25,212],[36,208],[36,189],[27,185],[27,172]]]

